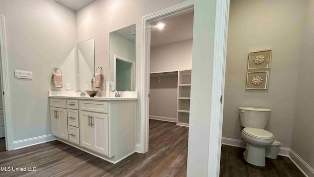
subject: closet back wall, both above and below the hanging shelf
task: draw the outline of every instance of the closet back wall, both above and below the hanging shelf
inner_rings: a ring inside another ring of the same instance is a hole
[[[193,40],[151,47],[150,72],[178,71],[192,68]],[[178,76],[150,78],[149,115],[177,118]]]

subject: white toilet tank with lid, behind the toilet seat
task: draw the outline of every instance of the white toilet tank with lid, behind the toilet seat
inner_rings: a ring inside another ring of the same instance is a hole
[[[239,107],[240,125],[265,129],[270,117],[269,108]]]

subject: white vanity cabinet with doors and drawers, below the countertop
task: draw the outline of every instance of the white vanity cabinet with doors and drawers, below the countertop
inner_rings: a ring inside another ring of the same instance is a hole
[[[136,100],[50,96],[52,135],[117,163],[135,152]]]

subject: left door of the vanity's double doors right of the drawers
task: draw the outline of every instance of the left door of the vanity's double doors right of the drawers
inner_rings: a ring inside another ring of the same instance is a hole
[[[85,148],[93,149],[93,128],[90,125],[90,113],[79,111],[79,141],[80,145]]]

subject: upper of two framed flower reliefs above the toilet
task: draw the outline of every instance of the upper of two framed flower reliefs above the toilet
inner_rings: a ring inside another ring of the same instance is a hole
[[[272,49],[249,52],[248,70],[267,69],[271,65]]]

